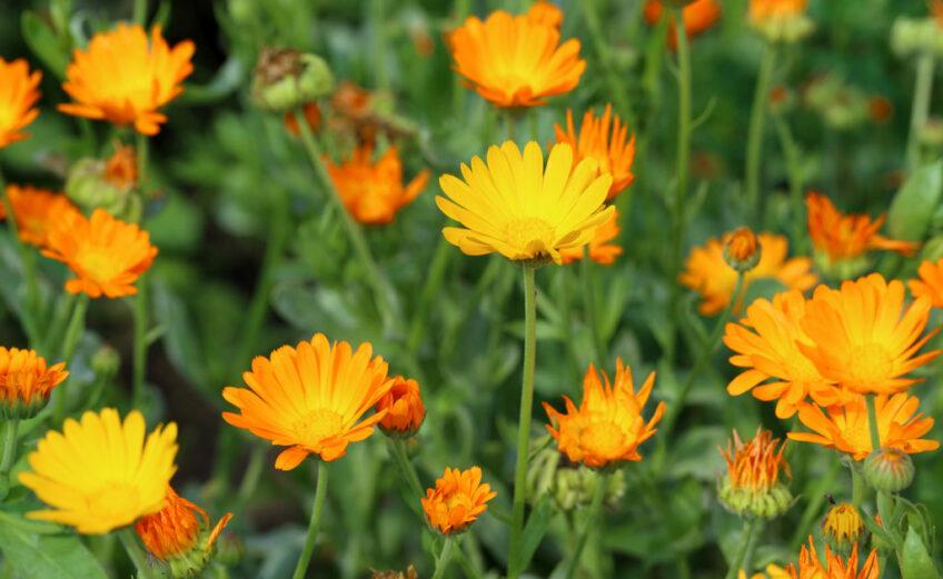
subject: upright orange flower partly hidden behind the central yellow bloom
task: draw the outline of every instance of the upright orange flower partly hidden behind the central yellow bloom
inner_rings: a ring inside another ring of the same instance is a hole
[[[566,109],[566,131],[554,123],[557,142],[568,142],[573,147],[573,162],[583,159],[594,159],[599,166],[598,174],[613,176],[613,184],[606,193],[606,201],[612,201],[626,187],[632,184],[632,161],[635,159],[635,133],[626,142],[628,127],[619,122],[618,114],[613,118],[613,106],[606,104],[606,112],[598,119],[593,117],[593,109],[583,116],[579,127],[579,138],[573,127],[573,111]],[[613,120],[612,140],[609,140],[609,119]]]

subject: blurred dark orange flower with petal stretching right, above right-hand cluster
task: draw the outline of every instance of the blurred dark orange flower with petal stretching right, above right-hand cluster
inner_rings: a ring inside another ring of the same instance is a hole
[[[911,257],[920,243],[887,239],[877,232],[884,223],[881,214],[874,221],[865,213],[846,216],[832,201],[815,191],[805,197],[808,211],[808,237],[816,250],[828,256],[828,262],[854,259],[870,249],[889,249]]]

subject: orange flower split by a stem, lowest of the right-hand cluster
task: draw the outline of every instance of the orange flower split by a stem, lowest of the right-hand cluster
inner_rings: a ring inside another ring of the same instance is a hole
[[[922,413],[914,416],[920,405],[916,397],[901,392],[891,397],[879,395],[874,398],[877,415],[877,433],[883,447],[893,447],[909,455],[935,450],[940,442],[920,437],[933,428],[933,418]],[[827,412],[827,413],[826,413]],[[858,395],[842,406],[825,409],[814,405],[803,405],[798,419],[814,432],[790,432],[790,438],[803,442],[814,442],[824,448],[834,448],[847,452],[855,460],[864,460],[874,450],[871,447],[867,406],[864,396]]]

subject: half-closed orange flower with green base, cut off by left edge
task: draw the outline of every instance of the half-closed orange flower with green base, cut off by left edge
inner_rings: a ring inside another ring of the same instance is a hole
[[[33,350],[9,350],[0,346],[0,419],[31,418],[47,402],[49,393],[68,378],[66,363],[46,367]]]

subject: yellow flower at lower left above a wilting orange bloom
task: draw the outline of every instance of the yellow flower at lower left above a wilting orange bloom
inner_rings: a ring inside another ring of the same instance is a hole
[[[100,535],[131,525],[163,506],[177,470],[177,425],[158,426],[145,440],[145,417],[132,410],[87,411],[81,422],[66,419],[62,432],[47,432],[29,455],[31,471],[20,482],[53,507],[27,513]]]

